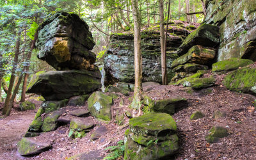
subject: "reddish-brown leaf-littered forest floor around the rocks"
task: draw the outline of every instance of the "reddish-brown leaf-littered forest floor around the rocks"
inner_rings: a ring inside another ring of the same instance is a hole
[[[205,77],[211,76],[206,74]],[[173,115],[177,122],[179,136],[179,153],[175,159],[255,159],[256,157],[256,97],[243,93],[230,92],[223,86],[225,74],[214,75],[216,85],[203,90],[192,90],[183,86],[147,86],[143,88],[152,99],[167,99],[169,97],[184,97],[188,99],[188,108],[184,108]],[[121,97],[115,99],[113,113],[122,113],[128,109],[129,96],[122,95],[124,106],[120,106]],[[80,108],[86,108],[83,106]],[[67,108],[75,109],[67,106]],[[204,118],[189,120],[195,111],[202,111]],[[214,111],[225,113],[224,117],[213,118]],[[51,140],[51,150],[42,152],[38,156],[21,157],[17,154],[17,141],[27,131],[29,123],[33,120],[36,110],[20,113],[14,109],[7,118],[0,120],[0,159],[67,159],[79,153],[84,153],[84,159],[102,159],[108,152],[104,148],[116,145],[124,140],[124,132],[128,128],[128,118],[124,125],[118,126],[115,120],[106,123],[99,122],[92,116],[86,117],[97,125],[88,132],[84,138],[71,140],[68,138],[69,125],[62,125],[52,132],[44,132],[35,137],[40,140]],[[69,111],[65,116],[70,116]],[[136,114],[136,113],[134,113]],[[1,116],[1,115],[0,115]],[[85,119],[86,119],[85,118]],[[90,136],[100,126],[104,125],[107,132],[98,140],[90,140]],[[229,135],[221,138],[218,143],[209,144],[205,136],[213,126],[222,126],[228,129]],[[89,153],[89,154],[88,154]]]

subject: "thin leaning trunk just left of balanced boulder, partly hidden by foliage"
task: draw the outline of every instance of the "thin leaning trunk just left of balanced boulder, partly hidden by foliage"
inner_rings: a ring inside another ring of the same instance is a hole
[[[39,1],[38,6],[40,7],[42,3],[42,0]],[[35,22],[38,22],[38,13],[36,13],[35,15]],[[34,35],[34,39],[31,42],[31,46],[30,46],[30,51],[28,52],[28,56],[26,58],[26,67],[25,67],[25,75],[24,75],[24,79],[23,79],[23,84],[22,84],[22,92],[21,92],[21,98],[20,98],[20,102],[24,102],[25,101],[25,97],[26,97],[26,88],[27,88],[27,83],[28,83],[28,72],[29,72],[29,65],[30,65],[30,59],[31,59],[31,54],[33,52],[33,49],[35,48],[35,41],[37,39],[38,36],[38,31],[36,31],[35,35]],[[26,38],[26,36],[25,36]],[[26,41],[25,41],[26,42]]]

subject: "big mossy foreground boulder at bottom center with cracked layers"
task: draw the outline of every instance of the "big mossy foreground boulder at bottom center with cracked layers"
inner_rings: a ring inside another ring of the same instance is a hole
[[[124,159],[169,159],[179,149],[176,122],[166,113],[131,118],[129,127]]]

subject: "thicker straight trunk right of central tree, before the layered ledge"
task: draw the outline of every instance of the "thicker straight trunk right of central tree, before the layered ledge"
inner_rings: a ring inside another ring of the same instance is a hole
[[[160,14],[160,45],[161,45],[161,69],[162,69],[162,83],[166,85],[166,54],[164,51],[164,2],[159,0],[159,14]]]

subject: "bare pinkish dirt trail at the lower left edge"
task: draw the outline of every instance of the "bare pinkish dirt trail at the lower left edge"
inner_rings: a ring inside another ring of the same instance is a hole
[[[11,113],[0,119],[0,159],[17,159],[17,142],[28,130],[35,117],[35,111]]]

